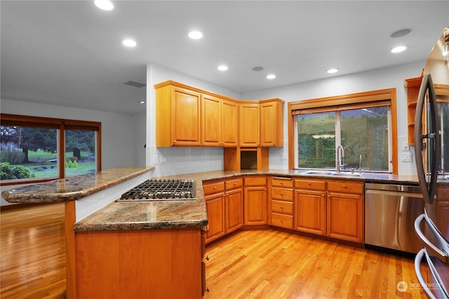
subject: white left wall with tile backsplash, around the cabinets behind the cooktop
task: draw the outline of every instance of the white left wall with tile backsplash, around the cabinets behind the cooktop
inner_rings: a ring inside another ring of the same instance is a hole
[[[208,172],[223,169],[222,148],[156,148],[154,85],[173,80],[202,90],[240,99],[241,94],[220,85],[201,81],[156,64],[147,65],[147,165],[154,165],[154,176]],[[161,160],[166,163],[161,164]]]

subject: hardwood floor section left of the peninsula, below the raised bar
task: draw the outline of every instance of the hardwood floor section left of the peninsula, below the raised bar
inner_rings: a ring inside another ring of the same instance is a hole
[[[64,204],[0,214],[0,298],[65,298]]]

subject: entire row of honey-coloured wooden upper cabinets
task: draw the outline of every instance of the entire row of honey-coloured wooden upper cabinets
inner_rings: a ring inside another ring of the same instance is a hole
[[[281,99],[236,100],[175,81],[154,88],[156,146],[283,146]]]

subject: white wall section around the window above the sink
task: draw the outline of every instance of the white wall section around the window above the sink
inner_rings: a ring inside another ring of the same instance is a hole
[[[332,97],[337,95],[348,95],[356,92],[367,92],[370,90],[382,90],[396,88],[397,121],[398,121],[398,173],[416,174],[415,160],[402,162],[402,145],[408,141],[407,137],[407,90],[404,88],[404,79],[420,76],[424,68],[425,60],[410,64],[401,64],[395,67],[375,69],[346,76],[333,76],[331,78],[298,83],[272,88],[246,92],[243,97],[248,99],[265,99],[279,97],[286,101],[284,106],[284,148],[270,148],[269,167],[273,169],[288,169],[288,161],[281,160],[281,153],[288,154],[287,137],[287,103],[314,99],[320,97]],[[410,151],[414,151],[410,147]],[[414,154],[413,154],[414,156]]]

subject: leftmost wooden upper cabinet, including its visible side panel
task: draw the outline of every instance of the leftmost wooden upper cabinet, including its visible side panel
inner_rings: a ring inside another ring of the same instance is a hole
[[[156,146],[201,145],[201,94],[161,83],[156,88]]]

